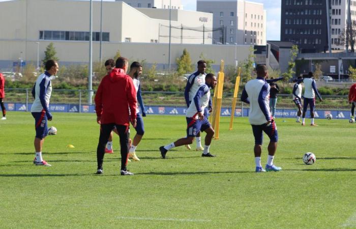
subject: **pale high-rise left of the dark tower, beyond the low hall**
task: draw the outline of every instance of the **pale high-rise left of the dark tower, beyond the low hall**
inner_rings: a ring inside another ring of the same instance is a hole
[[[266,44],[266,11],[261,3],[244,0],[197,0],[197,11],[213,13],[215,44]]]

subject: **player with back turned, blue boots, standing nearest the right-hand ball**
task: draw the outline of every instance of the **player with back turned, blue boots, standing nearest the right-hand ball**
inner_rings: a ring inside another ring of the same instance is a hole
[[[278,132],[276,123],[272,119],[269,107],[270,84],[265,81],[268,77],[268,69],[265,65],[256,68],[257,78],[248,81],[241,95],[241,101],[250,104],[249,122],[252,126],[253,136],[255,137],[256,173],[264,171],[279,171],[282,168],[273,164],[273,159],[277,150]],[[265,170],[261,166],[261,146],[263,132],[270,137],[268,146],[268,159]]]

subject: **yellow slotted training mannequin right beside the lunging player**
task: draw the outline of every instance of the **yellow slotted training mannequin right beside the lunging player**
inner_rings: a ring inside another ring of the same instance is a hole
[[[210,123],[215,130],[214,139],[219,139],[220,112],[222,102],[222,92],[224,87],[224,61],[220,62],[220,71],[218,73],[218,84],[216,85],[213,97],[213,112],[210,116]]]

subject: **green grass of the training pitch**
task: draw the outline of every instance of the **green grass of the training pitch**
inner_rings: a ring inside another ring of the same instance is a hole
[[[149,115],[136,151],[141,161],[128,164],[135,176],[124,177],[117,136],[114,154],[105,155],[104,175],[94,175],[99,136],[94,114],[53,115],[49,126],[58,133],[46,138],[43,150],[52,167],[32,163],[30,113],[8,112],[8,120],[0,122],[3,228],[356,227],[356,124],[347,120],[316,120],[319,127],[307,120],[302,127],[293,119],[277,119],[275,164],[283,170],[256,174],[246,118],[235,119],[232,131],[229,119],[222,118],[220,140],[211,147],[216,158],[180,147],[163,160],[158,148],[184,136],[186,121]],[[303,164],[306,152],[316,155],[314,165]]]

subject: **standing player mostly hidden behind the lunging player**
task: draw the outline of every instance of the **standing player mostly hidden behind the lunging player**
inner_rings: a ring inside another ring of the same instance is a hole
[[[189,107],[190,103],[192,102],[196,92],[198,91],[199,87],[205,83],[205,69],[206,69],[206,62],[205,61],[198,61],[198,71],[191,74],[188,78],[186,89],[184,91],[184,98],[187,103],[187,107]],[[209,102],[209,111],[211,111],[211,101]],[[190,146],[187,145],[187,148],[190,150]],[[200,140],[200,131],[196,134],[196,150],[204,150],[201,146]]]

